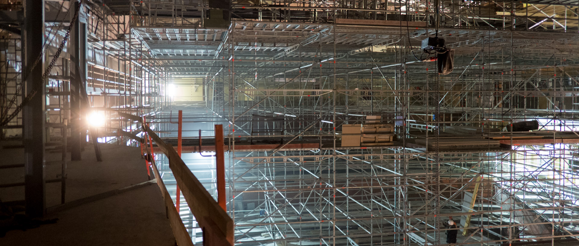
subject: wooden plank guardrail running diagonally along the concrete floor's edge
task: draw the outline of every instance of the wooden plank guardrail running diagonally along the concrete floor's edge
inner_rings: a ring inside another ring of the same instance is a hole
[[[219,206],[219,204],[213,199],[207,189],[203,187],[203,184],[193,173],[189,170],[189,167],[185,165],[185,162],[179,157],[177,151],[171,146],[171,144],[165,143],[155,132],[149,128],[148,125],[145,124],[144,120],[137,116],[127,113],[118,113],[120,116],[124,118],[128,118],[133,121],[138,121],[142,125],[142,129],[146,132],[155,142],[155,144],[163,151],[163,153],[167,156],[169,160],[169,167],[171,172],[173,172],[173,176],[175,180],[177,180],[177,185],[181,189],[183,196],[193,215],[195,216],[197,222],[199,223],[201,229],[203,230],[203,245],[206,246],[223,246],[223,245],[230,245],[233,246],[233,219],[229,217],[223,208]],[[155,166],[155,165],[153,165]],[[160,181],[160,176],[158,170],[155,167],[155,176],[157,178],[157,184],[163,184]],[[160,181],[160,182],[159,182]],[[161,187],[161,185],[159,185]],[[164,187],[164,185],[163,185]],[[163,188],[162,188],[163,192]],[[167,189],[164,189],[164,192],[167,192]],[[163,196],[167,202],[167,197],[170,200],[171,204],[173,204],[173,200],[171,200],[168,193],[164,193]],[[167,195],[167,196],[165,196]],[[174,205],[173,205],[174,207]],[[169,209],[170,210],[170,209]],[[176,210],[174,210],[177,213]],[[171,216],[177,216],[179,222],[181,222],[181,218],[179,217],[178,213]],[[171,218],[170,218],[171,219]],[[171,222],[171,226],[173,226],[173,222]],[[183,223],[181,222],[181,226]],[[179,238],[182,238],[182,230],[177,228],[179,225],[175,222],[175,228],[173,228],[173,234],[175,235],[175,239],[178,240],[178,245],[188,245],[186,243],[179,244]],[[184,226],[182,226],[183,229]],[[179,238],[178,238],[179,237]],[[190,240],[189,234],[187,233],[187,237]]]

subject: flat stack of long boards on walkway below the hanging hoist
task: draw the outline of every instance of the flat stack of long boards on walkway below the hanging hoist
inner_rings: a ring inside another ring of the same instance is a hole
[[[426,139],[416,139],[416,144],[426,146]],[[428,150],[433,151],[436,140],[428,139]],[[438,139],[439,150],[485,150],[500,147],[500,141],[483,139],[480,137]]]

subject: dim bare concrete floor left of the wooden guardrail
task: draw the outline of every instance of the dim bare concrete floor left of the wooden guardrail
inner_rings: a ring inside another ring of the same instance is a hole
[[[3,141],[0,145],[21,144]],[[128,187],[148,180],[145,161],[135,147],[101,144],[102,162],[92,145],[82,153],[83,161],[67,163],[66,202]],[[0,165],[23,163],[23,148],[0,148]],[[70,155],[68,155],[70,158]],[[46,153],[46,179],[60,174],[61,154]],[[24,168],[0,169],[0,184],[24,181]],[[46,184],[46,204],[60,204],[60,182]],[[24,187],[0,188],[3,202],[24,199]],[[25,232],[11,230],[0,245],[174,245],[163,197],[156,184],[68,208],[45,218],[58,222]]]

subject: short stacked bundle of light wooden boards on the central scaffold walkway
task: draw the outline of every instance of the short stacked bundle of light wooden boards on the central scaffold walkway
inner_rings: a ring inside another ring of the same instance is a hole
[[[367,120],[367,123],[342,125],[342,147],[391,146],[394,144],[392,142],[394,124],[381,124],[379,118]]]

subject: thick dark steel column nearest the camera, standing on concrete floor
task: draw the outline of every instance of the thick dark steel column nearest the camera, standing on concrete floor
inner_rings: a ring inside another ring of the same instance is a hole
[[[44,0],[24,1],[24,71],[25,93],[28,95],[35,84],[42,83],[44,57],[32,67],[38,55],[42,55],[44,43]],[[42,85],[44,86],[44,85]],[[38,93],[23,107],[24,133],[24,198],[26,214],[30,217],[43,217],[46,210],[45,197],[45,89]]]

